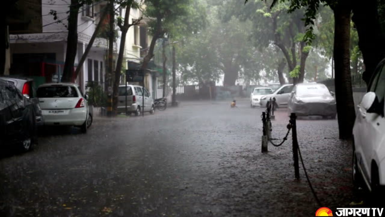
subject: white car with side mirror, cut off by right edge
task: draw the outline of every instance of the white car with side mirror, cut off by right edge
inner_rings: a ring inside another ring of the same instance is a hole
[[[368,92],[357,106],[353,127],[353,182],[374,193],[385,188],[385,61],[368,85]],[[365,184],[364,184],[365,183]]]

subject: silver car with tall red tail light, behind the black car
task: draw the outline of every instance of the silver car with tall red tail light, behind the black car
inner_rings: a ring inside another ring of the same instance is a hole
[[[10,76],[10,75],[2,75],[0,76],[1,79],[6,81],[11,81],[16,88],[23,94],[24,97],[29,98],[34,105],[34,110],[36,114],[36,124],[38,126],[43,125],[43,116],[42,116],[42,110],[39,106],[39,98],[37,98],[36,90],[33,86],[33,79],[22,77],[22,76]]]

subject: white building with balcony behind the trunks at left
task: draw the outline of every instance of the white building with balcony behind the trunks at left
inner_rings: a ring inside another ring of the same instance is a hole
[[[106,1],[86,5],[79,10],[78,44],[75,67],[87,47],[95,27],[100,22]],[[57,19],[54,19],[56,12]],[[43,32],[37,34],[10,35],[10,74],[35,78],[37,85],[56,82],[64,68],[67,49],[67,12],[69,5],[64,2],[42,0]],[[87,55],[76,82],[85,90],[87,81],[105,81],[105,55],[107,40],[97,38]],[[116,44],[114,44],[116,53]]]

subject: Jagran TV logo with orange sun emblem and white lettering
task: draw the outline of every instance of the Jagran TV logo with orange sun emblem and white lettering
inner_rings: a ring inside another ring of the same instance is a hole
[[[337,208],[336,216],[382,216],[383,208]],[[333,216],[328,207],[321,207],[315,216]]]

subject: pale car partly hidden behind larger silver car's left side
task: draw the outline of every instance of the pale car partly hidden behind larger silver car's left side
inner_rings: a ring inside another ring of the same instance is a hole
[[[261,100],[259,100],[259,105],[261,108],[266,108],[270,98],[275,98],[275,107],[285,108],[288,106],[288,99],[290,97],[291,90],[293,90],[293,84],[282,85],[280,88],[275,90],[274,93],[261,97]]]

